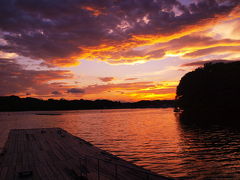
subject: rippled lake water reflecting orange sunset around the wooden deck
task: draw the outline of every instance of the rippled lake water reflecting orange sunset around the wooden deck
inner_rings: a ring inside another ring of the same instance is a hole
[[[172,108],[1,112],[0,147],[9,129],[61,127],[137,165],[174,178],[240,178],[240,131],[180,123]]]

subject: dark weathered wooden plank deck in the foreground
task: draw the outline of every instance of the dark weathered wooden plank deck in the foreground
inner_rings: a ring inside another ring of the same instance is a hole
[[[11,130],[0,155],[0,179],[167,179],[60,128]]]

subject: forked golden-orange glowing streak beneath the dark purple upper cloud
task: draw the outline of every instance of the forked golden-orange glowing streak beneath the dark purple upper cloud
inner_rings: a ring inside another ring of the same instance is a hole
[[[238,40],[234,41],[223,39],[205,42],[201,41],[204,39],[199,38],[199,42],[195,42],[195,44],[191,42],[190,44],[183,44],[183,47],[178,47],[178,49],[175,50],[171,49],[170,46],[168,46],[168,48],[163,48],[164,45],[167,45],[167,43],[171,42],[172,40],[177,40],[189,34],[207,30],[218,22],[232,18],[232,16],[228,17],[225,14],[216,15],[210,19],[204,19],[194,25],[184,26],[178,32],[174,33],[170,32],[168,34],[132,35],[132,37],[130,37],[130,39],[127,41],[111,41],[96,47],[85,47],[83,48],[83,52],[78,56],[78,59],[98,59],[111,64],[132,64],[162,59],[165,56],[184,56],[187,53],[204,48],[217,46],[239,46],[240,41]],[[234,18],[236,18],[236,16],[234,16]],[[151,47],[155,44],[159,44],[159,46],[162,47],[155,50],[151,50],[150,48],[150,50],[146,51],[147,46]],[[134,50],[137,48],[142,48],[143,50]]]

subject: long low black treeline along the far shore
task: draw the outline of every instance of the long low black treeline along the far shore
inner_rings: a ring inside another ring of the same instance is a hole
[[[120,108],[166,108],[173,107],[174,100],[139,101],[123,103],[109,100],[41,100],[18,96],[0,97],[0,111],[77,110],[77,109],[120,109]]]

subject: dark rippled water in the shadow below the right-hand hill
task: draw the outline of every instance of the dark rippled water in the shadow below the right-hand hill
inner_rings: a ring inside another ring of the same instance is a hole
[[[199,120],[199,117],[195,118]],[[238,179],[240,175],[238,126],[223,124],[223,121],[217,123],[212,119],[205,119],[200,123],[194,121],[196,119],[181,119],[181,116],[177,118],[182,129],[181,147],[185,166],[183,169],[188,171],[187,177]]]

